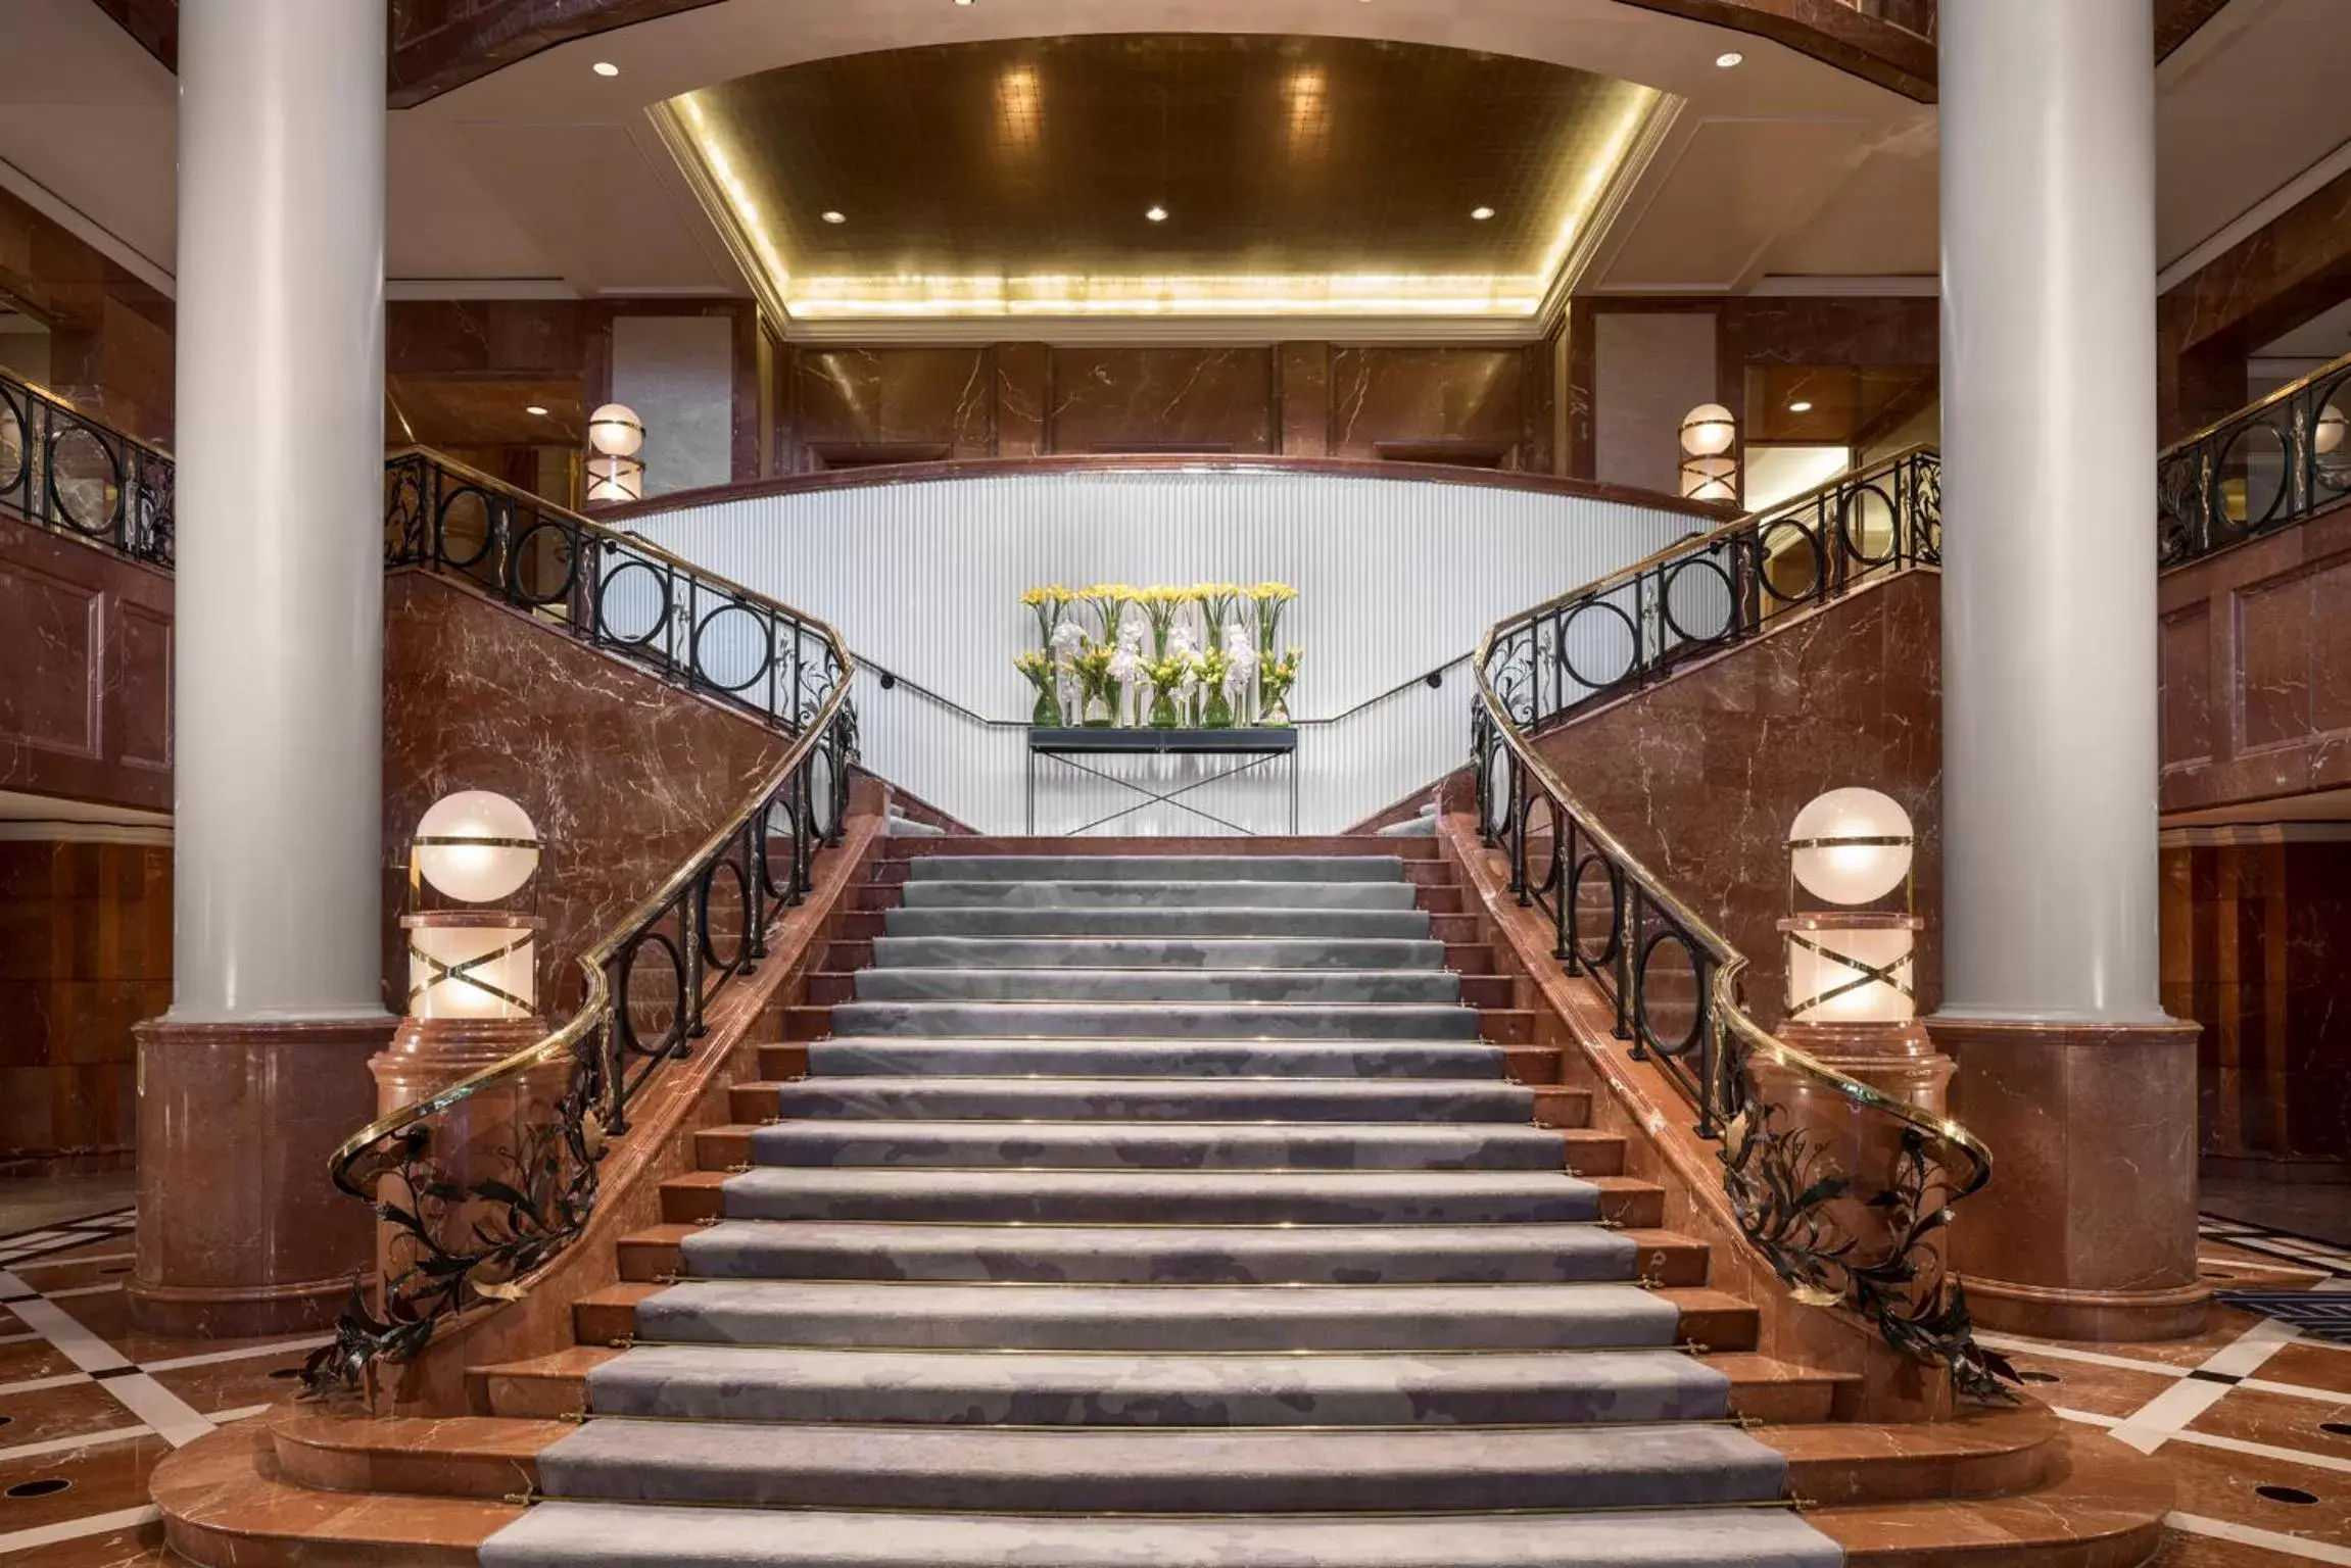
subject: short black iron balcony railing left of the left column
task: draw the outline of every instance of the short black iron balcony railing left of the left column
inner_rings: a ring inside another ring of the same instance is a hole
[[[0,508],[172,567],[172,454],[0,371]]]

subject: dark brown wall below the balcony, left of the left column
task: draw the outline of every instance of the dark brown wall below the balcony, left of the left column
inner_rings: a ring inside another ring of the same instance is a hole
[[[172,846],[0,842],[0,1175],[132,1161],[132,1025],[172,1004]]]

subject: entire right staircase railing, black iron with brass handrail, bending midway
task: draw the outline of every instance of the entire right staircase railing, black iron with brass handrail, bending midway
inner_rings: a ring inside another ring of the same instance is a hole
[[[1721,1143],[1740,1229],[1799,1300],[1860,1314],[1883,1340],[1949,1368],[1972,1399],[2003,1399],[2008,1366],[1975,1342],[1944,1267],[1951,1206],[1991,1178],[1963,1126],[1846,1077],[1766,1030],[1740,999],[1740,954],[1580,802],[1535,750],[1533,729],[1622,691],[1683,654],[1751,632],[1775,607],[1817,602],[1869,571],[1933,559],[1933,456],[1904,454],[1789,505],[1688,538],[1486,632],[1472,701],[1479,827],[1509,860],[1509,891],[1552,926],[1552,957],[1601,990],[1613,1032],[1655,1063]],[[1876,517],[1878,531],[1860,520]],[[1775,543],[1777,541],[1777,543]],[[1808,541],[1810,576],[1775,578]],[[1690,635],[1667,607],[1681,574],[1721,590],[1721,623]],[[1660,607],[1665,639],[1641,639]],[[1613,609],[1596,609],[1613,607]],[[1608,684],[1566,670],[1578,614],[1634,632]],[[1869,1178],[1855,1175],[1871,1171]]]

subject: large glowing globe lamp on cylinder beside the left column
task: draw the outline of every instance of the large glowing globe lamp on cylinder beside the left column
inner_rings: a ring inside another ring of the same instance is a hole
[[[409,903],[426,889],[461,905],[513,898],[538,870],[538,830],[489,790],[433,802],[409,839]],[[423,910],[409,933],[409,1018],[520,1020],[538,1011],[538,917],[517,910]]]

